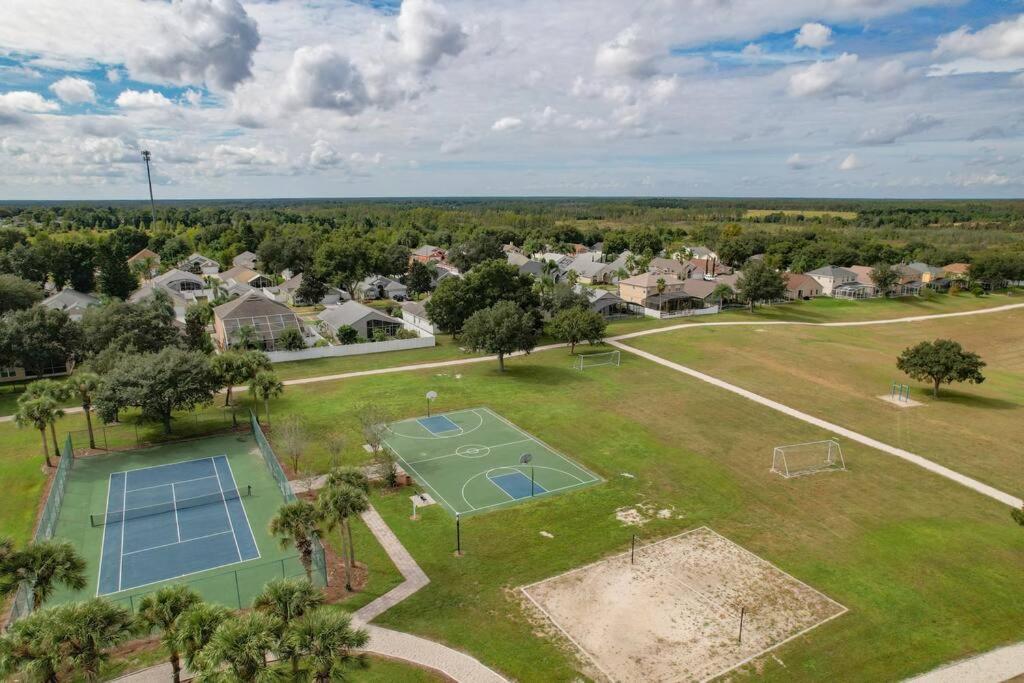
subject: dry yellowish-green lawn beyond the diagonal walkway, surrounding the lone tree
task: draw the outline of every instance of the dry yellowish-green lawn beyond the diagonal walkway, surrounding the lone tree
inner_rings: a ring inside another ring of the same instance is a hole
[[[816,417],[906,449],[1014,495],[1024,493],[1024,309],[857,328],[699,328],[630,340]],[[931,387],[896,370],[906,347],[954,339],[988,364],[980,385]],[[908,383],[923,407],[878,398]]]

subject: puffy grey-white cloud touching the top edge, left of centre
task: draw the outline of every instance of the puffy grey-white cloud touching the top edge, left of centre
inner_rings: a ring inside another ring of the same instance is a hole
[[[420,69],[430,69],[444,55],[454,57],[466,48],[466,32],[432,0],[404,0],[396,24],[402,55]]]

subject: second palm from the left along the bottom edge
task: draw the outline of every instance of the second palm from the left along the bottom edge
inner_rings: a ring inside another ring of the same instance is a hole
[[[134,626],[128,609],[103,598],[61,605],[54,618],[59,622],[66,660],[88,681],[99,678],[99,668],[110,656],[108,650],[127,640]]]

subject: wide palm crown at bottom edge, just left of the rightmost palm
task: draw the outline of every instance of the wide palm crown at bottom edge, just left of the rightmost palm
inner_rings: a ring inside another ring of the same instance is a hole
[[[200,680],[279,681],[281,672],[267,665],[283,630],[273,614],[251,611],[223,622],[196,664]],[[225,676],[226,674],[226,676]]]

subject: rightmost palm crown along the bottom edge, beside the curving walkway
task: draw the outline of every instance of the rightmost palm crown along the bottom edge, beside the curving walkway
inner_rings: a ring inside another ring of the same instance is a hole
[[[289,628],[292,648],[309,664],[316,683],[344,680],[344,669],[352,660],[362,663],[353,649],[370,640],[364,629],[353,629],[351,617],[337,609],[319,607],[294,622]]]

